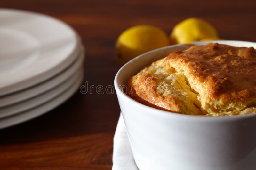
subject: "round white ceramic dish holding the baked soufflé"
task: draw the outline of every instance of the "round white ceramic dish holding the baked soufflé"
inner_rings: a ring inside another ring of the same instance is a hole
[[[256,48],[253,42],[211,42]],[[140,170],[255,170],[256,114],[183,115],[148,107],[124,93],[129,78],[140,69],[187,48],[173,45],[144,53],[116,74],[115,89],[137,166]]]

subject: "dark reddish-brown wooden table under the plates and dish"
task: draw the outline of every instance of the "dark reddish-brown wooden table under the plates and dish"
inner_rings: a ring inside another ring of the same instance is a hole
[[[41,12],[71,25],[86,48],[84,83],[94,86],[113,85],[116,38],[133,25],[156,25],[169,34],[194,16],[212,23],[224,39],[256,41],[253,0],[2,0],[0,7]],[[0,169],[111,169],[119,113],[116,94],[77,92],[43,116],[0,130]]]

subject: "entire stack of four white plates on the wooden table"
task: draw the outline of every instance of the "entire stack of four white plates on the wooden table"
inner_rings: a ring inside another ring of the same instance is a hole
[[[66,101],[83,81],[84,48],[65,23],[0,9],[0,129]]]

